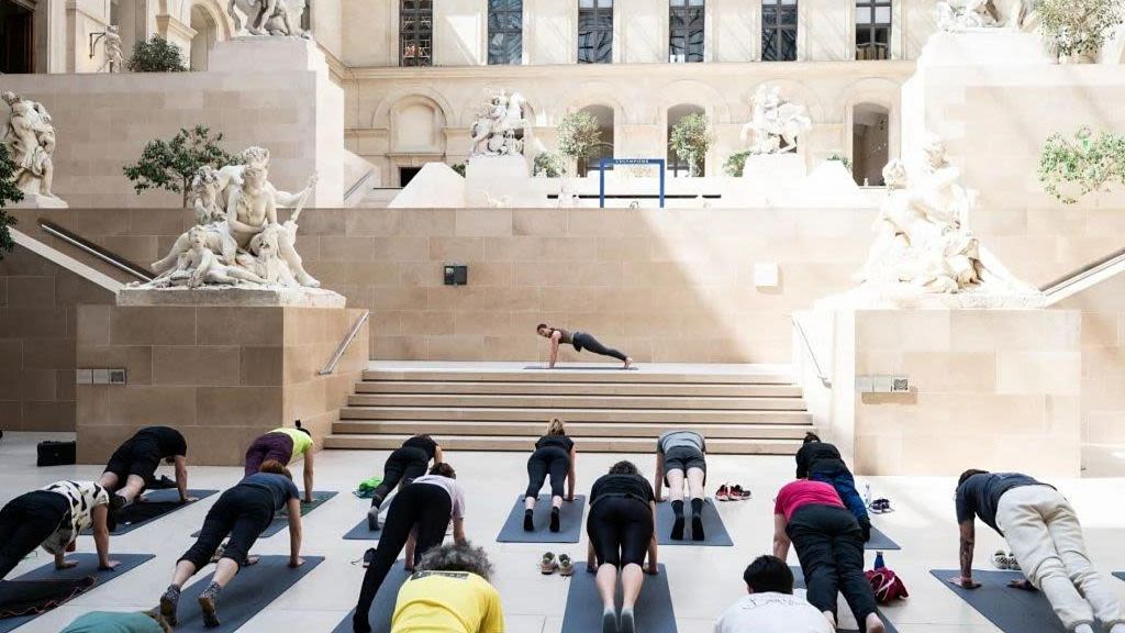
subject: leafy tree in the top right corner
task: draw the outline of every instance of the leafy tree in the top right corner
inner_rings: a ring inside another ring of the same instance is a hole
[[[1040,29],[1060,57],[1094,59],[1125,19],[1120,0],[1040,0]]]

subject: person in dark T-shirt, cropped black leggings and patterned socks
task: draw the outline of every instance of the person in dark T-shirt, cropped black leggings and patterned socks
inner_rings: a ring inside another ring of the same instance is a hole
[[[286,508],[289,515],[289,567],[304,564],[300,559],[300,493],[289,471],[280,462],[271,460],[261,465],[260,472],[220,494],[208,510],[198,540],[177,561],[172,583],[160,597],[160,613],[164,619],[176,625],[183,583],[210,562],[223,538],[230,535],[231,540],[215,565],[212,583],[199,595],[204,624],[218,626],[216,604],[219,591],[234,579],[238,569],[258,562],[256,558],[250,556],[250,549],[281,508]]]

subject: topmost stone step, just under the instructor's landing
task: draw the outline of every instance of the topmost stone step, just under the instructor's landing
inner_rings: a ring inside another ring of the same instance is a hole
[[[799,398],[801,387],[785,384],[693,384],[605,382],[362,381],[357,393],[439,393],[496,395],[677,395],[684,398]]]

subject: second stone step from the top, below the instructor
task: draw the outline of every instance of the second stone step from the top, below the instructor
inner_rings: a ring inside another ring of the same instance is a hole
[[[356,394],[351,407],[490,408],[490,409],[692,409],[803,411],[800,398],[680,398],[672,395],[492,395],[492,394]]]

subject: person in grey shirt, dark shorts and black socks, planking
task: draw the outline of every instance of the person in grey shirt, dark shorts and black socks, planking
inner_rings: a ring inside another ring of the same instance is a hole
[[[672,538],[684,538],[684,481],[692,503],[692,541],[703,541],[703,484],[706,482],[706,440],[690,430],[670,430],[656,440],[656,478],[652,488],[663,501],[660,487],[668,482],[672,499]]]

